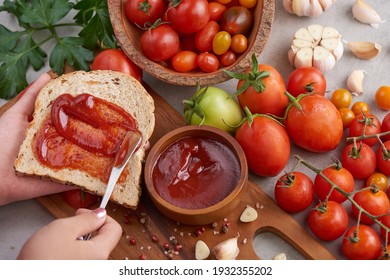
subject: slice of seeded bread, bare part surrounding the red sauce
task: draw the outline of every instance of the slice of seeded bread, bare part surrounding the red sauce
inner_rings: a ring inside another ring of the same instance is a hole
[[[131,157],[126,167],[129,169],[126,181],[117,183],[111,195],[111,201],[135,209],[141,195],[144,144],[153,133],[155,117],[153,98],[136,79],[127,74],[109,70],[76,71],[64,74],[46,84],[37,97],[33,121],[15,160],[15,171],[19,175],[39,176],[55,182],[75,185],[100,196],[104,195],[106,184],[101,180],[76,169],[50,168],[43,165],[34,155],[33,137],[48,118],[52,101],[63,93],[73,96],[89,93],[120,106],[136,119],[138,130],[143,136],[142,148]]]

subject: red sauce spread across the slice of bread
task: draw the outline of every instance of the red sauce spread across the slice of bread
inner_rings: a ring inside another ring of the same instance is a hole
[[[107,182],[129,130],[137,131],[137,123],[119,106],[87,93],[65,93],[53,101],[33,146],[46,166],[78,169]]]

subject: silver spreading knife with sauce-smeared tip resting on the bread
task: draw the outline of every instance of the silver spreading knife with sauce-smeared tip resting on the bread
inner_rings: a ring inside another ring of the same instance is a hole
[[[123,141],[119,147],[119,150],[115,156],[114,164],[112,166],[110,178],[108,179],[106,191],[100,202],[99,208],[106,208],[108,201],[110,200],[111,194],[114,190],[116,182],[119,176],[122,174],[123,169],[129,162],[130,157],[139,148],[142,142],[142,135],[136,131],[129,131],[126,133]],[[88,240],[91,238],[92,233],[80,237],[80,240]]]

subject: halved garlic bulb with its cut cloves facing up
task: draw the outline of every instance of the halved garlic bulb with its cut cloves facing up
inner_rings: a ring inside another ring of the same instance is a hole
[[[340,33],[330,26],[312,24],[295,32],[288,59],[296,68],[312,66],[331,70],[344,52]]]

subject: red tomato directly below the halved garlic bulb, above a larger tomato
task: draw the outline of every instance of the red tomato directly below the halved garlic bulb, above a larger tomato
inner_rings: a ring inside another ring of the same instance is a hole
[[[325,95],[326,79],[324,74],[315,67],[300,67],[288,77],[287,91],[294,97],[302,93],[317,93]]]

